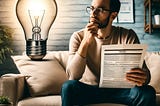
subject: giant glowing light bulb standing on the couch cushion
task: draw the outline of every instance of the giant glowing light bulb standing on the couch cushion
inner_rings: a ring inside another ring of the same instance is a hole
[[[46,55],[49,30],[57,15],[55,0],[18,0],[16,15],[23,28],[26,54],[32,60]]]

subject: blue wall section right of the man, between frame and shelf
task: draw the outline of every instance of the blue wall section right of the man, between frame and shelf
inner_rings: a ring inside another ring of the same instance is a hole
[[[132,28],[137,33],[141,43],[148,45],[148,51],[160,51],[160,32],[153,32],[151,35],[144,32],[144,0],[134,0],[135,23],[119,24],[126,28]],[[160,30],[160,29],[159,29]]]

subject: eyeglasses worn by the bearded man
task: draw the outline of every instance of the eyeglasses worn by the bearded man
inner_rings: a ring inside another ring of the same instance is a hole
[[[93,6],[87,6],[86,12],[90,14],[91,12],[96,11],[97,13],[105,13],[107,11],[112,12],[112,10],[104,9],[104,8],[94,8]]]

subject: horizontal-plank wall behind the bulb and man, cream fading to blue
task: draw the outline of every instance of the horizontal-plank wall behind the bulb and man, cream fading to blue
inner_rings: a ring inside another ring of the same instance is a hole
[[[16,18],[15,5],[17,0],[0,0],[0,24],[10,26],[13,33],[13,49],[15,54],[22,54],[25,51],[25,37],[23,30]],[[144,7],[143,0],[135,2],[135,23],[134,24],[115,24],[132,28],[137,33],[141,43],[148,44],[148,51],[160,51],[160,33],[149,35],[144,32]],[[69,38],[74,31],[83,28],[88,22],[88,14],[85,12],[86,6],[90,5],[91,0],[57,0],[58,15],[52,25],[49,39],[48,50],[68,50]],[[11,60],[9,60],[11,61]],[[12,70],[13,67],[7,61],[1,65],[0,70]],[[3,67],[3,68],[2,68]]]

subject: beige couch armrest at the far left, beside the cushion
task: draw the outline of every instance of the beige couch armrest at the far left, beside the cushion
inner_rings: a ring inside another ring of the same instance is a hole
[[[1,77],[0,93],[11,99],[13,106],[16,106],[24,92],[25,76],[22,74],[5,74]]]

